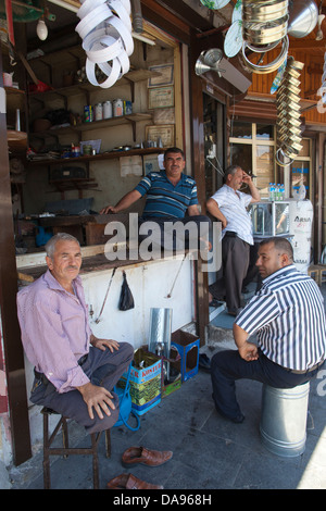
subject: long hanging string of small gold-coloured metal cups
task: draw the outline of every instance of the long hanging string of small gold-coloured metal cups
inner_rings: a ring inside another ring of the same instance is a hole
[[[281,166],[292,163],[302,149],[299,78],[303,66],[302,62],[289,57],[276,94],[278,147],[276,160]]]

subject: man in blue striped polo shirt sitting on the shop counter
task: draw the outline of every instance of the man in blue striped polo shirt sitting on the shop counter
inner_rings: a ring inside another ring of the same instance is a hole
[[[184,151],[176,147],[166,149],[163,163],[163,171],[150,172],[116,205],[108,205],[100,213],[120,213],[147,195],[140,225],[153,221],[158,225],[158,242],[164,242],[166,223],[170,222],[173,227],[177,221],[184,225],[195,222],[197,232],[208,239],[210,219],[199,214],[196,180],[183,172],[186,166]],[[167,248],[175,248],[175,241],[173,247]]]

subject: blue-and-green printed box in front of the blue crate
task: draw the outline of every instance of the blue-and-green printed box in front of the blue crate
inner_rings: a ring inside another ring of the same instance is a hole
[[[161,401],[162,360],[153,353],[138,349],[134,356],[135,366],[130,371],[131,408],[142,415]],[[145,361],[145,366],[139,367]],[[126,378],[126,373],[123,378]]]

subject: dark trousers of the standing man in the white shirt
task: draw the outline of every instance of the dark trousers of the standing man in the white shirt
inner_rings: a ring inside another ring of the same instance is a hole
[[[217,300],[226,297],[228,312],[237,313],[241,307],[242,283],[249,265],[250,245],[236,236],[225,235],[222,240],[223,276],[209,289]]]

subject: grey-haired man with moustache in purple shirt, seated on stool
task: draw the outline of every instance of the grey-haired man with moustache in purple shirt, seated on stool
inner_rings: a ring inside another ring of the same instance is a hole
[[[22,342],[35,366],[30,401],[74,419],[88,433],[109,429],[118,419],[112,389],[134,348],[92,334],[77,239],[60,233],[46,250],[48,271],[17,295]]]

